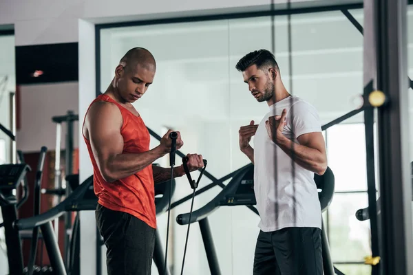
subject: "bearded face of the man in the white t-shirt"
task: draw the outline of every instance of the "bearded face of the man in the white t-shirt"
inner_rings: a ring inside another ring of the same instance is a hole
[[[257,65],[251,65],[242,72],[244,83],[248,84],[248,89],[258,102],[271,99],[274,93],[274,83],[271,81],[269,71],[264,72],[257,69]]]

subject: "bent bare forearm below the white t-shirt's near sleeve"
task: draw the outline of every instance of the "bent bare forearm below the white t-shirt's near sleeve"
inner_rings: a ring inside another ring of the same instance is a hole
[[[327,169],[327,155],[324,137],[320,132],[306,133],[297,137],[299,144],[288,140],[279,140],[278,146],[300,166],[318,175],[323,175]]]

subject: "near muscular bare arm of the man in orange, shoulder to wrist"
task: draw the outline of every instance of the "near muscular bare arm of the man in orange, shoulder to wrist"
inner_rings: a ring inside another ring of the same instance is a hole
[[[109,102],[95,102],[87,113],[86,137],[100,173],[108,182],[133,175],[166,154],[161,146],[144,153],[124,154],[122,124],[119,109]]]

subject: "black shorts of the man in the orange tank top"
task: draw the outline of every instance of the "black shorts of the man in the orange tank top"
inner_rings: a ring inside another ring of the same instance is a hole
[[[107,248],[108,275],[151,274],[156,229],[131,214],[98,204],[96,225]]]

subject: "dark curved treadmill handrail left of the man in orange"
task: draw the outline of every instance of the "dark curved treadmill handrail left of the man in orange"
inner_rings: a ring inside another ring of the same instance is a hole
[[[74,190],[64,201],[59,203],[57,206],[54,206],[54,208],[51,208],[50,210],[47,210],[46,212],[34,217],[28,217],[14,221],[14,228],[17,230],[32,229],[59,218],[66,212],[67,206],[72,205],[74,202],[81,199],[83,195],[85,195],[85,192],[89,188],[90,184],[93,184],[93,176],[90,176],[85,181],[83,181],[83,184],[76,188],[76,190]]]

